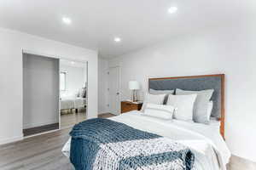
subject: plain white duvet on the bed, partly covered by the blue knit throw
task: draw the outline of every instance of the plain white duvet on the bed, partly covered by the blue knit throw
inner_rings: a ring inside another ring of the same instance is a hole
[[[177,120],[161,120],[143,116],[139,111],[130,111],[120,116],[109,118],[123,122],[128,126],[156,133],[166,138],[183,143],[195,153],[193,170],[225,170],[230,159],[230,150],[219,133],[219,125],[205,125],[195,122]],[[62,152],[69,156],[70,139],[64,145]]]

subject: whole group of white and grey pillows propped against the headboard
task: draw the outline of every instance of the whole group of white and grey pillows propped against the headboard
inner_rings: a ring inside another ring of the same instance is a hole
[[[177,119],[187,122],[209,123],[212,113],[213,89],[187,91],[182,89],[149,89],[143,103],[143,115],[162,119]]]

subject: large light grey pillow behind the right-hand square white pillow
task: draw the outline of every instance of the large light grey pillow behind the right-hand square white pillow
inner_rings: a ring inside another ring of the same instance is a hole
[[[201,90],[201,91],[187,91],[182,89],[176,89],[177,95],[184,94],[197,94],[195,99],[193,120],[194,122],[209,123],[209,117],[207,116],[207,108],[210,99],[212,98],[213,89]]]

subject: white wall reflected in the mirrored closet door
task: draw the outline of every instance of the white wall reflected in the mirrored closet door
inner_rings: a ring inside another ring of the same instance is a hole
[[[79,90],[86,83],[86,64],[83,67],[61,65],[61,71],[67,71],[67,92],[61,92],[62,95],[73,96],[79,93]]]

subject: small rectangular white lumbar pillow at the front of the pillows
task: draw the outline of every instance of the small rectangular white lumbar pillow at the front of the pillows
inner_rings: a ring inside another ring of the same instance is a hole
[[[143,115],[161,119],[172,119],[175,108],[172,105],[156,105],[148,103]]]

